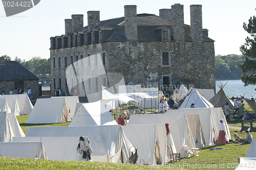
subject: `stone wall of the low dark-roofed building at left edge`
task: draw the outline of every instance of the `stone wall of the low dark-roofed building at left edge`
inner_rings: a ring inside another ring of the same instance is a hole
[[[32,89],[32,97],[39,96],[39,85],[38,80],[24,80],[24,81],[17,81],[17,82],[24,82],[24,91],[30,87]],[[9,94],[9,91],[15,90],[15,81],[1,81],[0,82],[0,91],[4,90],[6,94]]]

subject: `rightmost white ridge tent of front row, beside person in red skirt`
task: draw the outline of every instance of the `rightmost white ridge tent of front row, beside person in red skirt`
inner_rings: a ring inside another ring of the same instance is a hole
[[[218,139],[220,132],[220,120],[224,119],[224,125],[226,127],[226,138],[230,139],[230,132],[228,124],[226,122],[224,113],[221,108],[182,108],[178,110],[167,110],[168,113],[186,113],[186,114],[199,114],[203,128],[204,138],[206,145],[214,144]]]

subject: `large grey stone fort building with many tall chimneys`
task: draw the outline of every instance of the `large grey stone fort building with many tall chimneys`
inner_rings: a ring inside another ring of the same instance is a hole
[[[66,68],[100,54],[105,71],[119,72],[126,85],[159,87],[165,93],[181,83],[215,90],[214,40],[202,28],[201,5],[190,6],[190,26],[184,24],[180,4],[160,9],[159,16],[137,14],[136,5],[124,6],[120,18],[100,21],[99,13],[88,11],[86,27],[83,15],[72,15],[65,19],[65,35],[50,38],[51,89],[68,93],[68,84],[77,79],[67,79]],[[105,81],[108,79],[92,78],[83,86],[98,90],[101,85],[108,86]]]

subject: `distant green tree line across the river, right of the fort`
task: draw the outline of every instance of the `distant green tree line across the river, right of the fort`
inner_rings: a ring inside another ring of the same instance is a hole
[[[216,79],[241,79],[242,68],[239,63],[245,61],[245,56],[230,54],[215,56]]]

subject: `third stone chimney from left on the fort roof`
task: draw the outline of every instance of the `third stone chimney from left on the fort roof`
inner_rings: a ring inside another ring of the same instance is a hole
[[[99,29],[100,28],[100,19],[99,19],[99,11],[88,11],[88,30]]]

